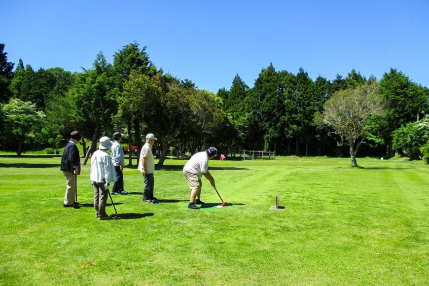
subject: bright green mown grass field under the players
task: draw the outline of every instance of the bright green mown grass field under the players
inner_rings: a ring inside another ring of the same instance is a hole
[[[126,168],[122,219],[99,221],[89,163],[63,208],[60,156],[0,155],[0,285],[428,285],[429,166],[393,158],[219,161],[208,208],[185,206],[184,160]],[[82,159],[83,161],[83,159]],[[134,160],[136,165],[136,160]],[[272,211],[280,195],[284,211]],[[107,213],[114,214],[108,200]]]

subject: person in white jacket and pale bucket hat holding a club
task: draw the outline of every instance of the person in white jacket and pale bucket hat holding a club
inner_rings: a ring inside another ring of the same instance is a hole
[[[115,167],[110,158],[108,149],[112,142],[107,136],[100,138],[98,150],[91,156],[90,179],[94,186],[94,209],[98,219],[111,219],[106,213],[108,188],[111,182],[117,180]]]

